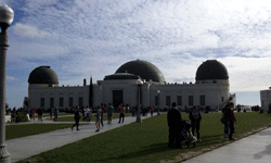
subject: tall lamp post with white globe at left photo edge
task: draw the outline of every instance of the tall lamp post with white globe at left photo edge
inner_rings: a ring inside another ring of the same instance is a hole
[[[7,29],[13,22],[14,12],[5,3],[0,5],[0,163],[10,163],[11,154],[5,148],[5,72],[7,72]]]

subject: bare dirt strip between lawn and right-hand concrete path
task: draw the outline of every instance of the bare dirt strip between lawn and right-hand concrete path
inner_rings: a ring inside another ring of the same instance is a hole
[[[238,137],[235,137],[235,140],[238,140],[238,139],[245,138],[247,136],[250,136],[253,134],[259,133],[259,131],[261,131],[263,129],[267,129],[268,127],[269,126],[260,127],[258,129],[253,129],[250,131],[244,133],[244,134],[240,135]],[[223,137],[221,137],[221,138],[223,139]],[[231,142],[234,142],[234,141],[225,141],[225,142],[212,145],[212,146],[210,146],[208,148],[204,148],[204,149],[201,149],[201,150],[197,150],[197,151],[190,151],[190,152],[185,152],[185,153],[180,153],[179,155],[177,155],[175,158],[175,160],[160,160],[160,163],[176,163],[176,162],[186,161],[186,160],[190,160],[190,159],[195,158],[197,155],[201,155],[203,153],[206,153],[206,152],[212,151],[215,149],[218,149],[219,147],[229,145]]]

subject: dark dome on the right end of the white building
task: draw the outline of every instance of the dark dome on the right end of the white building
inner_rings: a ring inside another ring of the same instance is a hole
[[[207,60],[196,71],[196,80],[229,79],[227,67],[217,60]]]

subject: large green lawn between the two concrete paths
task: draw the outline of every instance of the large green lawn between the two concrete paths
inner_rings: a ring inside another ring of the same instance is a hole
[[[167,116],[143,120],[143,123],[132,123],[90,138],[69,143],[61,148],[41,153],[30,159],[31,163],[89,163],[89,162],[159,162],[176,160],[189,152],[208,151],[228,143],[223,138],[223,125],[220,123],[221,113],[202,114],[201,136],[203,142],[196,148],[168,149]],[[270,127],[271,116],[257,112],[235,113],[235,138],[242,138],[247,133],[262,127]],[[184,120],[189,114],[182,113]],[[25,163],[26,160],[20,163]]]

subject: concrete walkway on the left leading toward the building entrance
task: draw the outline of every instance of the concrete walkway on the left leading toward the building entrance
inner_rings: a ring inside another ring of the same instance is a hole
[[[149,114],[150,115],[150,114]],[[156,115],[156,113],[154,113]],[[150,116],[141,116],[141,120],[147,118]],[[101,127],[101,130],[99,133],[95,133],[95,124],[94,122],[91,122],[90,124],[81,125],[79,126],[80,130],[76,130],[76,127],[74,130],[70,128],[66,129],[60,129],[55,131],[34,135],[34,136],[27,136],[22,137],[17,139],[11,139],[7,140],[7,149],[11,153],[11,162],[17,162],[20,160],[24,160],[27,158],[30,158],[33,155],[65,146],[67,143],[72,143],[78,140],[81,140],[83,138],[88,138],[93,135],[98,135],[100,133],[104,133],[106,130],[111,130],[117,127],[121,127],[124,125],[134,123],[137,116],[129,116],[125,117],[125,123],[118,124],[118,120],[113,120],[112,124],[107,124],[107,121],[104,121],[104,126]],[[31,123],[53,123],[57,124],[56,122],[37,122],[31,121],[26,124]],[[74,123],[70,123],[70,127]],[[23,125],[23,123],[21,123]]]

